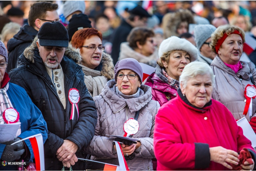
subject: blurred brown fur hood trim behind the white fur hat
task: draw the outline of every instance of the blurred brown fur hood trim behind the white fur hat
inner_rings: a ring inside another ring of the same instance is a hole
[[[163,17],[164,38],[179,36],[176,32],[180,22],[187,21],[188,24],[195,23],[194,17],[189,10],[180,9],[176,13],[167,13]]]

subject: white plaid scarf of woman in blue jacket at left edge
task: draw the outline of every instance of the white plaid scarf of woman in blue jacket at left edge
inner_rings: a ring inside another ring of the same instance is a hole
[[[9,88],[9,83],[0,89],[0,124],[6,124],[3,119],[3,112],[8,108],[13,108],[13,105],[7,95],[7,90]],[[19,121],[18,121],[19,122]],[[21,129],[19,128],[16,137],[21,134]]]

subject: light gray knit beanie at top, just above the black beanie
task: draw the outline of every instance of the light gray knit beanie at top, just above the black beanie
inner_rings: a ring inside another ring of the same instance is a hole
[[[67,18],[70,14],[76,11],[81,11],[84,14],[84,1],[66,1],[63,6],[63,15]]]

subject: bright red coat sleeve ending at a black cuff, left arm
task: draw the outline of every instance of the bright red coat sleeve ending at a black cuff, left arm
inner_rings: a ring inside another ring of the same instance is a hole
[[[155,121],[154,153],[159,163],[165,167],[195,168],[195,144],[182,143],[179,132],[166,115],[170,108],[160,108]]]

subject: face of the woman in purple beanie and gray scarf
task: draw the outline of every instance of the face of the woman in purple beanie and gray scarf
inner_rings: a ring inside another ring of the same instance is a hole
[[[140,79],[137,75],[135,76],[135,79],[128,79],[128,77],[129,74],[136,73],[132,70],[120,70],[118,74],[125,75],[123,79],[116,79],[116,86],[118,87],[118,90],[127,96],[135,94],[137,92],[138,87],[141,86]]]

